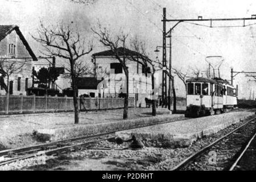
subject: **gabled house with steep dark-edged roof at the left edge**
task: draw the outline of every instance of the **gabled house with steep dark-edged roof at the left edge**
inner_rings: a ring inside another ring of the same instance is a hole
[[[24,94],[32,85],[32,64],[37,61],[36,56],[16,25],[0,25],[0,64],[3,70],[13,64],[14,73],[9,78],[9,93],[13,95]],[[18,69],[19,68],[19,69]],[[2,74],[0,73],[0,76]],[[7,78],[3,80],[7,85]],[[1,86],[0,94],[6,94]]]

